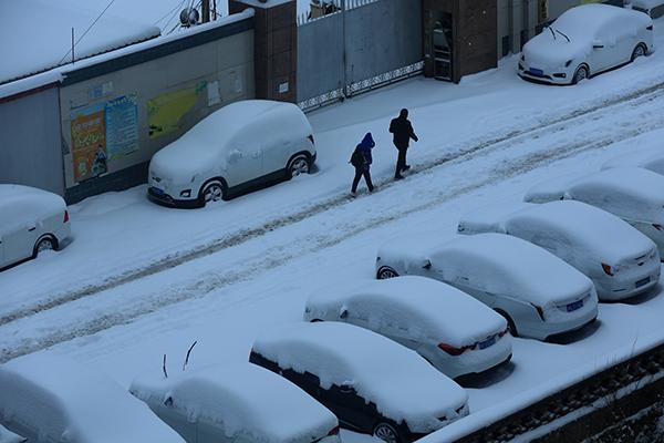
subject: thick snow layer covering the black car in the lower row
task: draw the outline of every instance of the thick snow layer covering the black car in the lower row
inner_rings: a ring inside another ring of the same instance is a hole
[[[310,372],[324,389],[352,384],[380,413],[409,426],[435,430],[456,418],[468,394],[414,351],[375,332],[325,321],[272,329],[253,351],[282,368]]]

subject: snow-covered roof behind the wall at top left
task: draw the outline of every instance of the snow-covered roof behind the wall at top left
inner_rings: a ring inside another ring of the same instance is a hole
[[[72,60],[72,28],[76,60],[159,35],[159,28],[134,23],[87,6],[65,6],[45,0],[3,1],[0,12],[0,84],[45,71]],[[28,14],[27,14],[28,12]],[[30,25],[27,25],[27,21]],[[39,30],[35,32],[34,30]],[[79,39],[81,39],[79,41]]]

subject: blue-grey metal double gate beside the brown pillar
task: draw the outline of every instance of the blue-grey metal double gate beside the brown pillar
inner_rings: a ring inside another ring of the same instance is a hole
[[[419,1],[336,0],[326,12],[298,19],[298,102],[303,110],[422,72]]]

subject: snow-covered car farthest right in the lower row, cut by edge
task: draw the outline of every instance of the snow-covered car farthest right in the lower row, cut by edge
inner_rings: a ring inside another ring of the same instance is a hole
[[[641,167],[616,167],[540,183],[523,197],[529,203],[583,202],[619,216],[657,245],[664,255],[664,176]]]

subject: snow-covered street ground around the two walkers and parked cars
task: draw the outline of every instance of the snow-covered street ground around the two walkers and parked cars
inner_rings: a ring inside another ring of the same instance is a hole
[[[246,360],[264,328],[301,320],[312,289],[372,278],[387,239],[452,237],[475,207],[661,143],[663,84],[664,52],[574,87],[522,82],[511,58],[460,85],[414,79],[311,114],[319,171],[308,177],[200,210],[155,206],[145,186],[89,198],[70,209],[71,245],[0,274],[0,360],[52,347],[126,387],[164,353],[175,370],[194,340],[193,364]],[[393,184],[386,128],[403,106],[421,142],[414,173]],[[351,199],[347,159],[367,131],[377,190]],[[655,295],[602,303],[566,342],[516,339],[512,364],[468,388],[459,425],[664,338],[661,309]]]

